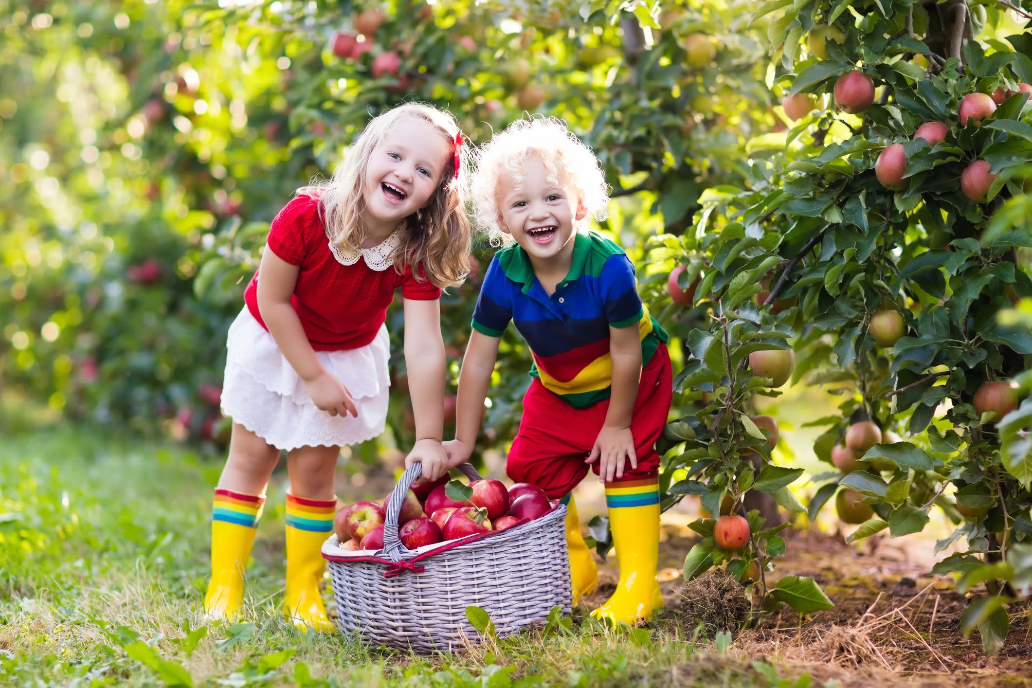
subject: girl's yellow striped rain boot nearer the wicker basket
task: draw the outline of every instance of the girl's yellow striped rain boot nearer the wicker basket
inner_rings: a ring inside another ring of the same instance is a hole
[[[322,544],[333,529],[336,500],[287,495],[287,591],[283,612],[299,629],[333,632],[319,581],[326,569]]]

